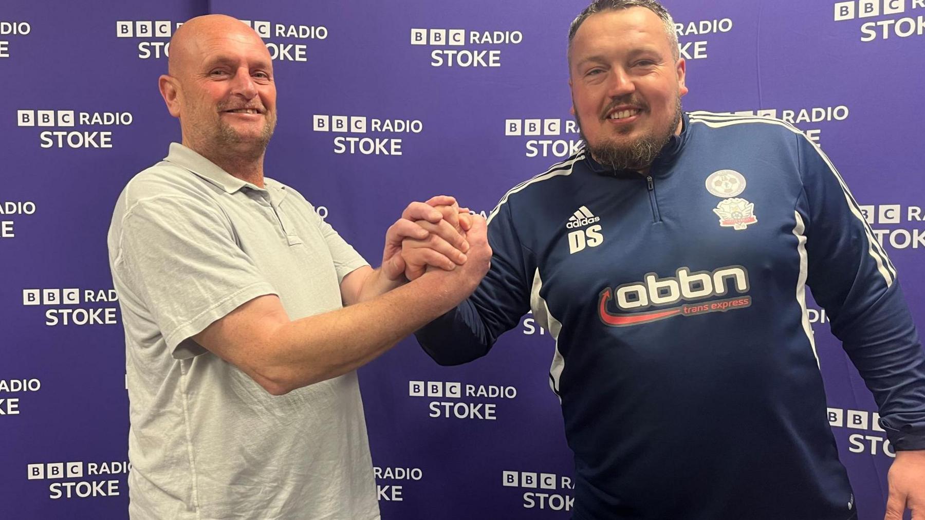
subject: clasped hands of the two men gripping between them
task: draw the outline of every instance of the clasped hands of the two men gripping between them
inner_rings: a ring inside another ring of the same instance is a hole
[[[488,271],[491,248],[485,218],[471,215],[456,199],[438,195],[412,203],[386,231],[382,272],[392,281],[437,271],[452,291],[475,291]]]

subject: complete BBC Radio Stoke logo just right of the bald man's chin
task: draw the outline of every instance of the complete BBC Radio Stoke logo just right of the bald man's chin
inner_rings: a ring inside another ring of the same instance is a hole
[[[335,135],[334,153],[338,155],[403,155],[402,139],[424,131],[420,119],[379,119],[365,116],[327,116],[315,114],[312,130]],[[373,134],[373,135],[370,135]]]

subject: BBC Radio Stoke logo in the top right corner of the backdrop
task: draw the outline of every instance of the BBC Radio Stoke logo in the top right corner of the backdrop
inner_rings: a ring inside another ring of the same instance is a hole
[[[850,0],[836,2],[834,20],[871,19],[891,17],[861,24],[861,42],[908,38],[925,34],[925,14],[900,17],[908,11],[925,10],[925,0]],[[914,13],[910,13],[914,14]]]

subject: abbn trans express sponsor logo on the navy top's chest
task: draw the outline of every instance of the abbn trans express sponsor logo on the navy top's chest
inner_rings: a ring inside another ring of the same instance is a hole
[[[724,296],[730,290],[746,294],[749,289],[748,270],[744,266],[720,267],[712,272],[691,272],[689,267],[681,267],[675,272],[674,277],[665,279],[660,279],[656,273],[648,273],[641,282],[624,283],[614,289],[607,287],[600,291],[598,317],[604,325],[628,327],[672,316],[696,316],[742,309],[751,305],[751,296],[684,303],[648,312],[632,312],[653,305],[671,305],[682,301]],[[622,312],[611,312],[611,300],[612,306]]]

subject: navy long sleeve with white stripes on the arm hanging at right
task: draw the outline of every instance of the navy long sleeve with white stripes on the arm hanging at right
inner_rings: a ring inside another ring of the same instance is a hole
[[[925,353],[896,271],[829,158],[796,136],[808,285],[871,392],[898,450],[925,449]]]

